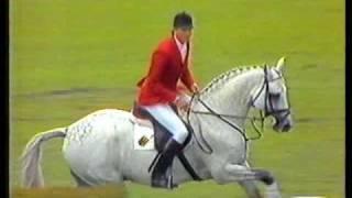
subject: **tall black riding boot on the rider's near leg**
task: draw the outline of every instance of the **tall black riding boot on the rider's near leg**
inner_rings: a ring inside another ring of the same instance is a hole
[[[174,185],[168,178],[167,169],[173,164],[175,155],[182,150],[182,144],[174,139],[169,139],[164,146],[163,152],[153,168],[152,173],[152,187],[173,188]]]

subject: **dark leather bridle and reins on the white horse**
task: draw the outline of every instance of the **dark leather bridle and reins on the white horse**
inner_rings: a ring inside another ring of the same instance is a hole
[[[204,100],[200,99],[200,95],[199,94],[193,94],[191,96],[191,99],[190,99],[190,105],[194,102],[195,98],[197,98],[197,100],[208,110],[208,111],[195,111],[195,110],[191,110],[190,108],[188,108],[187,110],[187,123],[190,128],[191,124],[190,124],[190,120],[189,120],[189,116],[190,116],[190,112],[195,113],[195,114],[209,114],[209,116],[213,116],[213,117],[217,117],[218,119],[220,119],[221,121],[223,121],[224,123],[229,124],[232,129],[234,129],[235,131],[238,131],[239,133],[241,133],[241,135],[243,136],[243,139],[245,140],[245,150],[246,150],[246,143],[248,141],[250,140],[258,140],[262,138],[262,133],[264,131],[264,120],[270,117],[270,116],[275,116],[275,114],[278,114],[278,113],[285,113],[284,116],[284,119],[287,118],[289,114],[290,114],[290,106],[289,106],[289,102],[288,102],[288,108],[284,108],[284,109],[274,109],[274,106],[273,106],[273,101],[271,100],[271,94],[270,94],[270,82],[272,81],[275,81],[275,80],[278,80],[278,79],[282,79],[283,76],[278,74],[278,77],[277,78],[274,78],[274,79],[268,79],[268,75],[267,75],[267,66],[265,65],[264,66],[264,81],[262,84],[262,87],[260,89],[260,91],[257,91],[256,96],[252,98],[252,107],[254,107],[254,103],[255,101],[260,98],[260,96],[262,95],[263,90],[265,90],[265,99],[264,99],[264,111],[263,110],[260,110],[260,118],[257,117],[244,117],[244,116],[235,116],[235,114],[224,114],[224,113],[218,113],[216,112],[212,108],[210,108]],[[288,98],[287,98],[287,101],[288,101]],[[240,127],[238,127],[237,124],[230,122],[227,118],[235,118],[235,119],[245,119],[245,120],[250,120],[251,121],[251,124],[254,129],[254,131],[257,133],[256,136],[251,136],[251,138],[248,138],[246,134],[245,134],[245,129],[241,129]],[[260,121],[261,123],[261,127],[258,129],[258,127],[256,125],[255,121]],[[200,127],[200,125],[199,125]],[[194,131],[194,130],[193,130]],[[212,153],[212,148],[210,146],[210,144],[205,140],[204,135],[202,135],[202,130],[200,129],[199,130],[199,133],[200,133],[200,138],[202,139],[201,141],[204,142],[204,144],[207,146],[207,150],[206,151],[204,148],[204,146],[199,143],[199,140],[198,138],[194,134],[195,136],[195,140],[198,144],[198,146],[205,152],[205,153],[208,153],[208,154],[211,154]]]

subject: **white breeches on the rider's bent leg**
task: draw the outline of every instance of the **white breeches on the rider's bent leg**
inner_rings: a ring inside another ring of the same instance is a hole
[[[166,128],[172,134],[173,139],[183,144],[187,138],[187,128],[184,122],[177,117],[175,111],[168,105],[153,105],[142,106],[154,119]]]

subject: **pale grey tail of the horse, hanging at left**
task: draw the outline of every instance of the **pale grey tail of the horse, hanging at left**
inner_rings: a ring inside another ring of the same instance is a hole
[[[22,156],[22,183],[26,188],[44,186],[41,168],[41,144],[54,138],[65,138],[66,128],[56,128],[34,135],[26,144]]]

